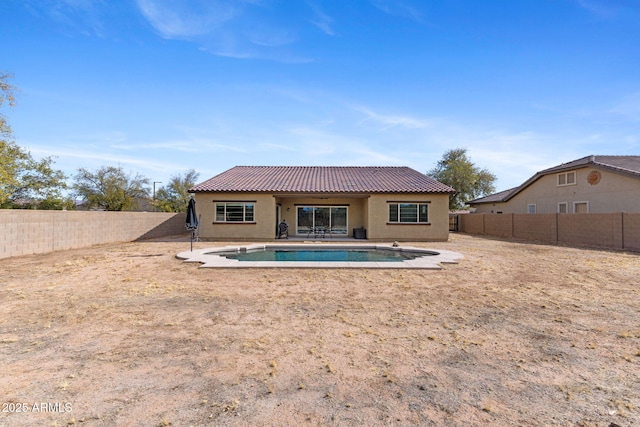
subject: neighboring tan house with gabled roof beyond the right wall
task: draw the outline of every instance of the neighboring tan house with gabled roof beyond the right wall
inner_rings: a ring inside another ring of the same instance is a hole
[[[587,156],[468,202],[474,213],[640,212],[640,156]]]

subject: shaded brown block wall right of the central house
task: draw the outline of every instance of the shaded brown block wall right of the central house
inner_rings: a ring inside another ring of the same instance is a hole
[[[469,234],[640,251],[640,213],[462,214]]]

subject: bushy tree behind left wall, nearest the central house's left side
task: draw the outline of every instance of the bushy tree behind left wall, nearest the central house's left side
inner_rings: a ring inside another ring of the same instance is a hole
[[[131,173],[122,167],[103,166],[95,172],[78,169],[73,190],[89,208],[107,211],[131,211],[149,198],[149,179]]]

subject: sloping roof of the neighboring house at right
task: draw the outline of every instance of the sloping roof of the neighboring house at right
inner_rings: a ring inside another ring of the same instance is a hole
[[[631,175],[636,178],[640,178],[640,156],[586,156],[571,162],[562,163],[558,166],[553,166],[548,169],[544,169],[537,172],[534,176],[526,180],[519,187],[511,188],[509,190],[501,191],[499,193],[491,194],[486,197],[471,200],[469,204],[480,203],[500,203],[506,202],[513,196],[533,184],[538,179],[545,175],[551,175],[554,173],[560,173],[564,171],[570,171],[574,169],[586,168],[586,167],[599,167],[607,169],[611,172]]]

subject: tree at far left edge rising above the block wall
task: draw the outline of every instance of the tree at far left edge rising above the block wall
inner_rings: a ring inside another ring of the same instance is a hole
[[[0,73],[0,107],[5,103],[15,106],[16,89],[9,83],[10,78],[11,75]],[[52,165],[51,157],[37,161],[19,147],[6,116],[0,113],[0,207],[15,207],[20,199],[32,207],[51,207],[55,200],[62,203],[67,177]]]

